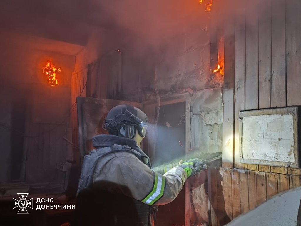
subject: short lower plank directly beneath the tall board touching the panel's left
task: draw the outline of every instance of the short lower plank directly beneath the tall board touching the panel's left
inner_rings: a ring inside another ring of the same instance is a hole
[[[238,169],[232,169],[232,215],[233,219],[240,215],[240,177]]]

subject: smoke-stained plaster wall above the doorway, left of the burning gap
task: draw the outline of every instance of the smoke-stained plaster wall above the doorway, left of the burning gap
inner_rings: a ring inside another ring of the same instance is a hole
[[[210,71],[210,42],[205,30],[197,28],[179,34],[160,49],[155,80],[151,87],[161,92],[219,86]]]

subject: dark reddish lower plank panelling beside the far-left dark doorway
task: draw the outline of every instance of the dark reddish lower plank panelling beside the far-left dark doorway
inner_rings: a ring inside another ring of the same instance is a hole
[[[26,174],[28,183],[63,181],[57,163],[66,161],[65,124],[29,123],[26,135]],[[41,173],[43,172],[43,173]]]

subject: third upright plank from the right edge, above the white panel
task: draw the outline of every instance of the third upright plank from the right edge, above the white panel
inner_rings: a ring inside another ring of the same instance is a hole
[[[259,7],[259,108],[271,107],[271,0]]]

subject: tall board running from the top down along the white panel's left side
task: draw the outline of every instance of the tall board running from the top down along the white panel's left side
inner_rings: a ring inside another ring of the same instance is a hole
[[[241,140],[239,138],[240,123],[239,111],[245,109],[245,0],[240,1],[243,6],[240,16],[235,18],[235,83],[234,83],[234,167],[243,168],[244,165],[240,163]]]

